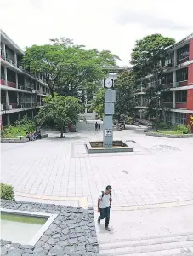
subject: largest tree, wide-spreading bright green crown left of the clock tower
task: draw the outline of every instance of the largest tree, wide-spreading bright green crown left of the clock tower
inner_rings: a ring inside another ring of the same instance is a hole
[[[110,51],[85,49],[68,38],[51,39],[48,45],[26,48],[24,66],[46,79],[51,95],[76,96],[87,84],[99,84],[105,77],[103,66],[115,66],[119,58]]]

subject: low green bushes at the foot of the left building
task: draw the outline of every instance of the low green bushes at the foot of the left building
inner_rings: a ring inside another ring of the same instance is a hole
[[[25,116],[17,120],[14,125],[9,125],[3,129],[2,137],[16,138],[18,135],[26,136],[26,132],[35,131],[35,123]]]

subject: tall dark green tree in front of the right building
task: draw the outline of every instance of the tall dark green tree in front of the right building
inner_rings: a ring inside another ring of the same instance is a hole
[[[164,73],[162,61],[167,56],[167,48],[174,43],[173,38],[152,34],[137,41],[132,52],[134,79],[147,87],[146,95],[149,99],[147,113],[150,118],[155,117],[156,110],[156,118],[159,119],[160,109],[165,116],[165,108],[162,108],[164,94],[161,93],[162,84],[160,84]],[[150,79],[153,79],[153,83],[148,85]]]

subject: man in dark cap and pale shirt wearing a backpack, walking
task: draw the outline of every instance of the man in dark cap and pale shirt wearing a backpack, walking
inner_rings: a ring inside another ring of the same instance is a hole
[[[105,191],[101,191],[98,199],[98,212],[100,213],[98,218],[98,224],[100,220],[105,218],[105,229],[110,231],[109,221],[110,221],[110,208],[112,203],[111,197],[111,186],[107,186]]]

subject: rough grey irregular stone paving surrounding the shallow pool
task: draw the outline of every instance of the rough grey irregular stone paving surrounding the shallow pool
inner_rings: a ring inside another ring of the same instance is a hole
[[[24,201],[1,201],[6,209],[57,214],[35,246],[1,240],[2,256],[96,256],[99,255],[92,207],[67,207]]]

